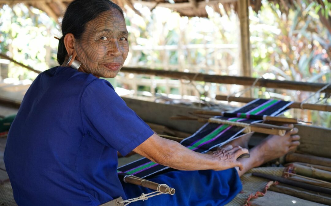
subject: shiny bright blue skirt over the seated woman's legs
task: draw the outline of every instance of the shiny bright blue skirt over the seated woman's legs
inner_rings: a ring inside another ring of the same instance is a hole
[[[176,193],[174,195],[161,194],[130,205],[225,205],[242,190],[240,178],[235,168],[222,171],[172,171],[148,180],[167,184],[174,188]],[[127,199],[138,197],[142,193],[153,192],[151,189],[128,183],[122,183],[122,186]]]

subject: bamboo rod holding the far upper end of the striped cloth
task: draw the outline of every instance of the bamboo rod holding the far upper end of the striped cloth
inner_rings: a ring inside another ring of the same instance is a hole
[[[227,96],[222,96],[222,95],[216,95],[215,97],[216,100],[222,100],[222,101],[227,101]],[[230,102],[242,102],[242,103],[249,103],[253,100],[256,100],[254,98],[247,98],[247,97],[229,97]],[[300,102],[294,102],[291,105],[288,106],[288,108],[298,108],[301,109],[300,107]],[[304,103],[302,105],[302,108],[304,109],[310,109],[310,110],[318,110],[318,111],[327,111],[331,112],[331,105],[326,105],[326,104],[309,104],[309,103]]]

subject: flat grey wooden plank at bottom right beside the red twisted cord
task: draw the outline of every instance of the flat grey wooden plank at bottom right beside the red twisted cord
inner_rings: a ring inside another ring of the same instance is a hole
[[[323,204],[300,199],[287,194],[267,191],[263,197],[251,200],[252,206],[322,206]]]

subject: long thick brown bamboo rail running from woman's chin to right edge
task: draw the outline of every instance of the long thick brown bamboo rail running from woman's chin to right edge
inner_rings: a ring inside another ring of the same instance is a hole
[[[123,67],[121,72],[134,73],[134,74],[148,74],[156,76],[164,76],[177,79],[191,79],[196,81],[214,82],[222,84],[237,84],[251,86],[256,78],[244,77],[244,76],[226,76],[226,75],[209,75],[200,73],[187,73],[187,72],[175,72],[165,70],[155,70],[146,68],[130,68]],[[310,82],[296,82],[296,81],[280,81],[271,79],[259,79],[255,84],[257,87],[279,88],[279,89],[292,89],[300,91],[316,92],[326,84],[323,83],[310,83]],[[331,86],[323,90],[322,92],[331,92]]]

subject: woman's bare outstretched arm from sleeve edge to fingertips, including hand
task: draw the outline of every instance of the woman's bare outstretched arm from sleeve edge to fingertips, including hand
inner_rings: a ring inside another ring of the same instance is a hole
[[[201,154],[157,134],[153,134],[133,151],[153,162],[179,170],[224,170],[236,166],[241,170],[242,164],[237,158],[248,153],[247,149],[230,146],[212,154]]]

